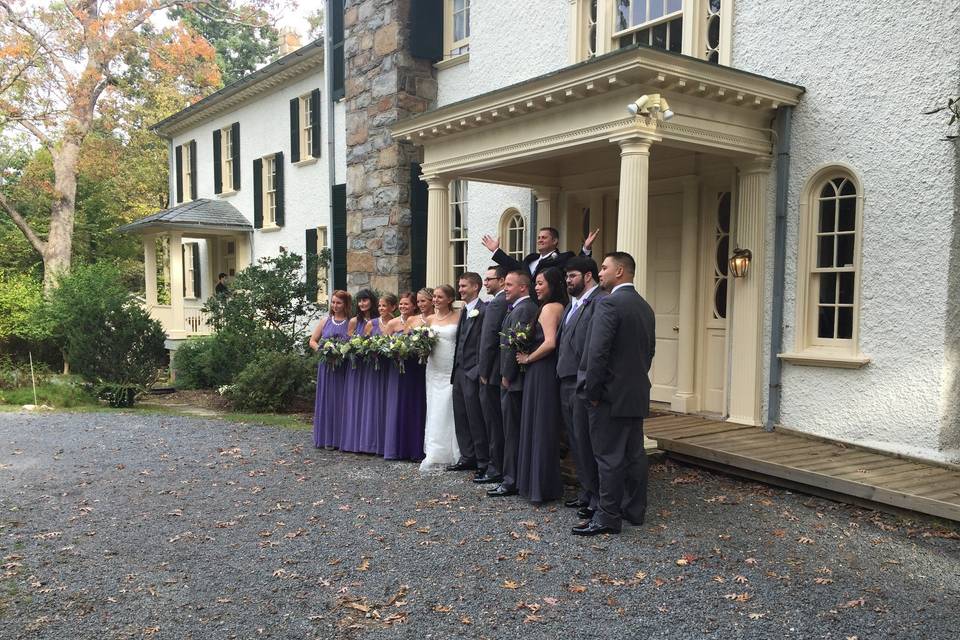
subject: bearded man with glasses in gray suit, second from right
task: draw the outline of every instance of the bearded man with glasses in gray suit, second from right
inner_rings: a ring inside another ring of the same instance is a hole
[[[587,404],[577,397],[577,379],[586,375],[580,361],[586,349],[587,333],[593,310],[606,292],[598,283],[597,263],[592,258],[573,258],[567,262],[567,293],[570,303],[560,321],[557,377],[560,379],[560,403],[567,427],[570,453],[577,467],[580,492],[564,504],[578,509],[577,515],[589,520],[597,508],[597,462],[590,447],[590,421]]]

